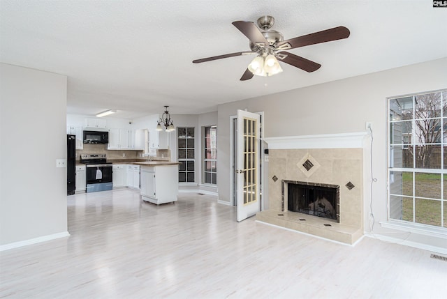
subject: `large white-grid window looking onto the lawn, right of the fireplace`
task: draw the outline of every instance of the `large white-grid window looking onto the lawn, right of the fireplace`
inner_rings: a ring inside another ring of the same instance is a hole
[[[447,90],[388,99],[389,218],[447,227]]]

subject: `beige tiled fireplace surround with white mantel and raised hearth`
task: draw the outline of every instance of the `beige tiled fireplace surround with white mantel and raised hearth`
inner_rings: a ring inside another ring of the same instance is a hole
[[[258,213],[256,220],[349,245],[356,243],[363,235],[365,136],[360,132],[265,139],[269,145],[269,209]],[[309,170],[303,167],[308,160],[313,165]],[[288,211],[288,181],[338,185],[339,223]]]

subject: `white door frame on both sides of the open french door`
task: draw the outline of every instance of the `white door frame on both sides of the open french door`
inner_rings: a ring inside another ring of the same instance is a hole
[[[260,125],[259,125],[259,129],[261,130],[260,133],[260,144],[261,144],[261,155],[259,157],[259,162],[261,164],[261,189],[260,189],[260,197],[259,199],[261,200],[261,210],[264,210],[264,194],[263,194],[263,190],[264,190],[264,128],[265,128],[265,118],[264,118],[264,112],[254,112],[256,114],[261,115],[261,121],[260,121]],[[235,206],[235,119],[237,119],[237,116],[232,115],[230,116],[230,205],[231,206]]]

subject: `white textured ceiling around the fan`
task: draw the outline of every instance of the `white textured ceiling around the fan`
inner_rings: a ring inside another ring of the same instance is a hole
[[[272,15],[294,38],[346,26],[345,40],[290,52],[321,63],[241,82],[254,56],[231,22]],[[217,105],[447,56],[447,9],[432,1],[0,1],[1,62],[68,76],[71,114],[211,112]]]

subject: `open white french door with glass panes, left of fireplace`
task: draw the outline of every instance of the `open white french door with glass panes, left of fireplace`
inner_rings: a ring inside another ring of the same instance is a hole
[[[237,222],[261,210],[259,200],[259,114],[237,110]]]

